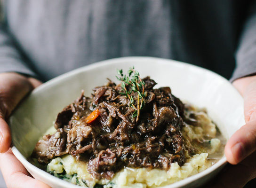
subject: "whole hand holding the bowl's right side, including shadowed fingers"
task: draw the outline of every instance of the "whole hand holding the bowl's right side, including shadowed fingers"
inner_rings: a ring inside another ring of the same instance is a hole
[[[230,164],[204,188],[243,188],[256,178],[256,76],[237,79],[233,86],[244,98],[246,125],[226,144],[225,155]]]

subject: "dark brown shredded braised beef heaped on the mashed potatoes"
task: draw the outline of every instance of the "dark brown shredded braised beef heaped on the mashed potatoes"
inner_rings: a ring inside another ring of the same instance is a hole
[[[88,172],[95,178],[111,179],[124,166],[160,168],[182,165],[184,139],[184,104],[171,94],[169,87],[153,89],[155,81],[146,77],[144,108],[139,121],[122,88],[111,80],[96,87],[91,97],[81,96],[61,111],[55,122],[57,132],[40,140],[33,157],[40,163],[64,154],[88,162]],[[136,99],[137,93],[131,96]],[[135,105],[136,100],[135,100]],[[93,110],[99,116],[86,123]]]

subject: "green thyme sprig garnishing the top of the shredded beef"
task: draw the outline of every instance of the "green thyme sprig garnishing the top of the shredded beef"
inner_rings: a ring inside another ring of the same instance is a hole
[[[124,93],[120,94],[126,95],[130,100],[129,106],[135,110],[132,114],[132,117],[136,117],[136,122],[138,122],[140,112],[145,104],[145,82],[140,78],[140,74],[134,69],[134,66],[130,68],[127,73],[128,75],[124,75],[122,69],[117,70],[117,74],[119,75],[119,77],[117,76],[116,78],[121,81],[122,91],[124,91]],[[131,96],[132,91],[137,93],[137,106],[135,104],[133,96]]]

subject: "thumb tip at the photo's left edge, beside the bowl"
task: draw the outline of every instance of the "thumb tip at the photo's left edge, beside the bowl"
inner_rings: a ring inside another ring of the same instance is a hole
[[[6,121],[0,117],[0,153],[8,151],[11,145],[11,131]]]

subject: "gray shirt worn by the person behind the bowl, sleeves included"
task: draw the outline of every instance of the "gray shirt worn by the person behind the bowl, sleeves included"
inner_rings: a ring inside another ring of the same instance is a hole
[[[121,56],[256,73],[255,0],[5,0],[0,72],[46,81]]]

